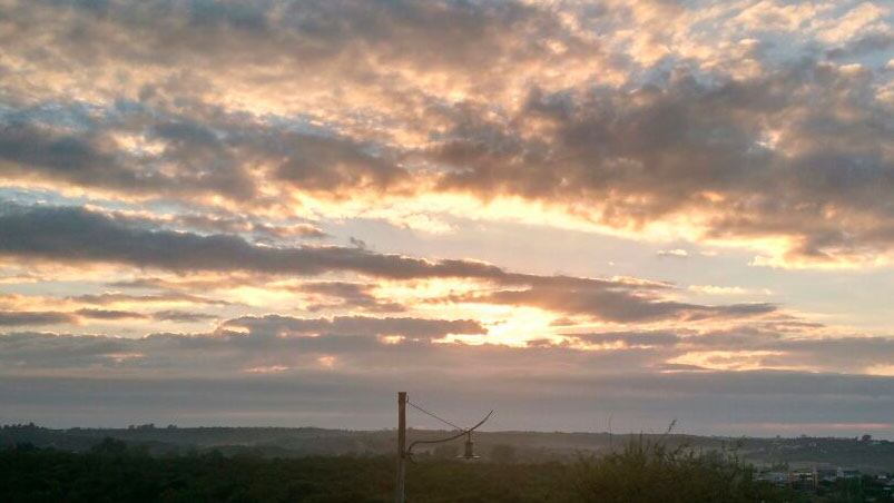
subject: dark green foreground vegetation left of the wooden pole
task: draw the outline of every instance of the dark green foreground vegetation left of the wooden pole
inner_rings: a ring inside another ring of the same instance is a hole
[[[153,457],[110,438],[86,453],[0,452],[3,502],[379,502],[392,479],[382,457]]]

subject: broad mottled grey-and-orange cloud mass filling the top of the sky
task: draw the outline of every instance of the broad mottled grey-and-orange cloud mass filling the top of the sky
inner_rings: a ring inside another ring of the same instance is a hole
[[[756,265],[891,262],[884,11],[698,3],[13,1],[3,177],[257,216],[521,198]]]

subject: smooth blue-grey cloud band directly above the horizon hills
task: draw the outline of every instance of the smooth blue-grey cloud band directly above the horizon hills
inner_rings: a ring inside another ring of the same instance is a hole
[[[393,427],[393,391],[406,389],[411,397],[451,411],[458,421],[473,421],[482,411],[497,408],[489,426],[495,431],[605,431],[612,416],[616,433],[660,433],[677,418],[679,432],[737,436],[756,432],[762,423],[777,422],[778,411],[785,410],[793,434],[856,436],[866,433],[865,423],[894,415],[893,385],[891,378],[795,373],[602,376],[584,382],[538,377],[458,382],[439,371],[363,379],[331,373],[238,379],[4,376],[0,378],[0,403],[8,422],[66,427],[154,422],[195,426],[337,424],[369,430]],[[320,396],[328,400],[321,404]],[[792,407],[793,401],[798,407]],[[234,410],[242,411],[236,420]],[[438,427],[422,416],[411,415],[411,422]],[[824,428],[829,423],[838,428]],[[848,424],[852,426],[841,428]],[[872,433],[890,436],[890,430]]]

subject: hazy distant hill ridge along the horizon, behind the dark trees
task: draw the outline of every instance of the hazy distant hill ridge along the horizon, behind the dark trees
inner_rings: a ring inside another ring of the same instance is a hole
[[[410,441],[439,438],[446,431],[410,430]],[[605,454],[620,448],[640,435],[561,432],[480,432],[475,450],[485,458],[541,462],[576,458],[580,453]],[[847,466],[865,473],[894,472],[894,442],[863,438],[795,437],[755,438],[697,435],[644,434],[669,446],[686,445],[697,451],[736,450],[756,465]],[[32,444],[82,452],[111,437],[139,445],[151,454],[184,454],[216,450],[225,455],[239,453],[265,457],[303,457],[310,455],[381,455],[395,450],[394,430],[347,431],[316,427],[158,427],[138,425],[127,428],[51,430],[37,425],[4,425],[0,443]],[[453,457],[461,442],[419,448],[417,458]]]

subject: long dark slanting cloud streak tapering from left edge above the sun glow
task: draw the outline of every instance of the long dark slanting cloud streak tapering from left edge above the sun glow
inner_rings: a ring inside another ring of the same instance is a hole
[[[71,207],[7,208],[0,214],[0,254],[69,263],[118,263],[174,272],[247,270],[303,276],[352,272],[391,279],[474,278],[515,288],[527,286],[528,289],[460,296],[453,300],[531,305],[587,314],[611,322],[662,318],[697,320],[753,316],[775,310],[775,306],[769,304],[700,306],[668,302],[659,297],[660,292],[667,288],[661,284],[515,274],[479,262],[431,262],[376,254],[362,248],[259,246],[232,235],[205,236],[159,230],[140,226],[139,221],[128,223]],[[369,294],[363,296],[358,292],[345,292],[346,288],[353,288],[345,284],[324,283],[307,288],[341,292],[343,296],[350,294],[354,303],[365,302],[366,307],[397,307],[387,302],[373,302]],[[102,303],[134,297],[122,295],[90,295],[78,299]],[[178,294],[171,295],[175,295],[174,299],[178,297]],[[158,296],[144,297],[154,299]]]

